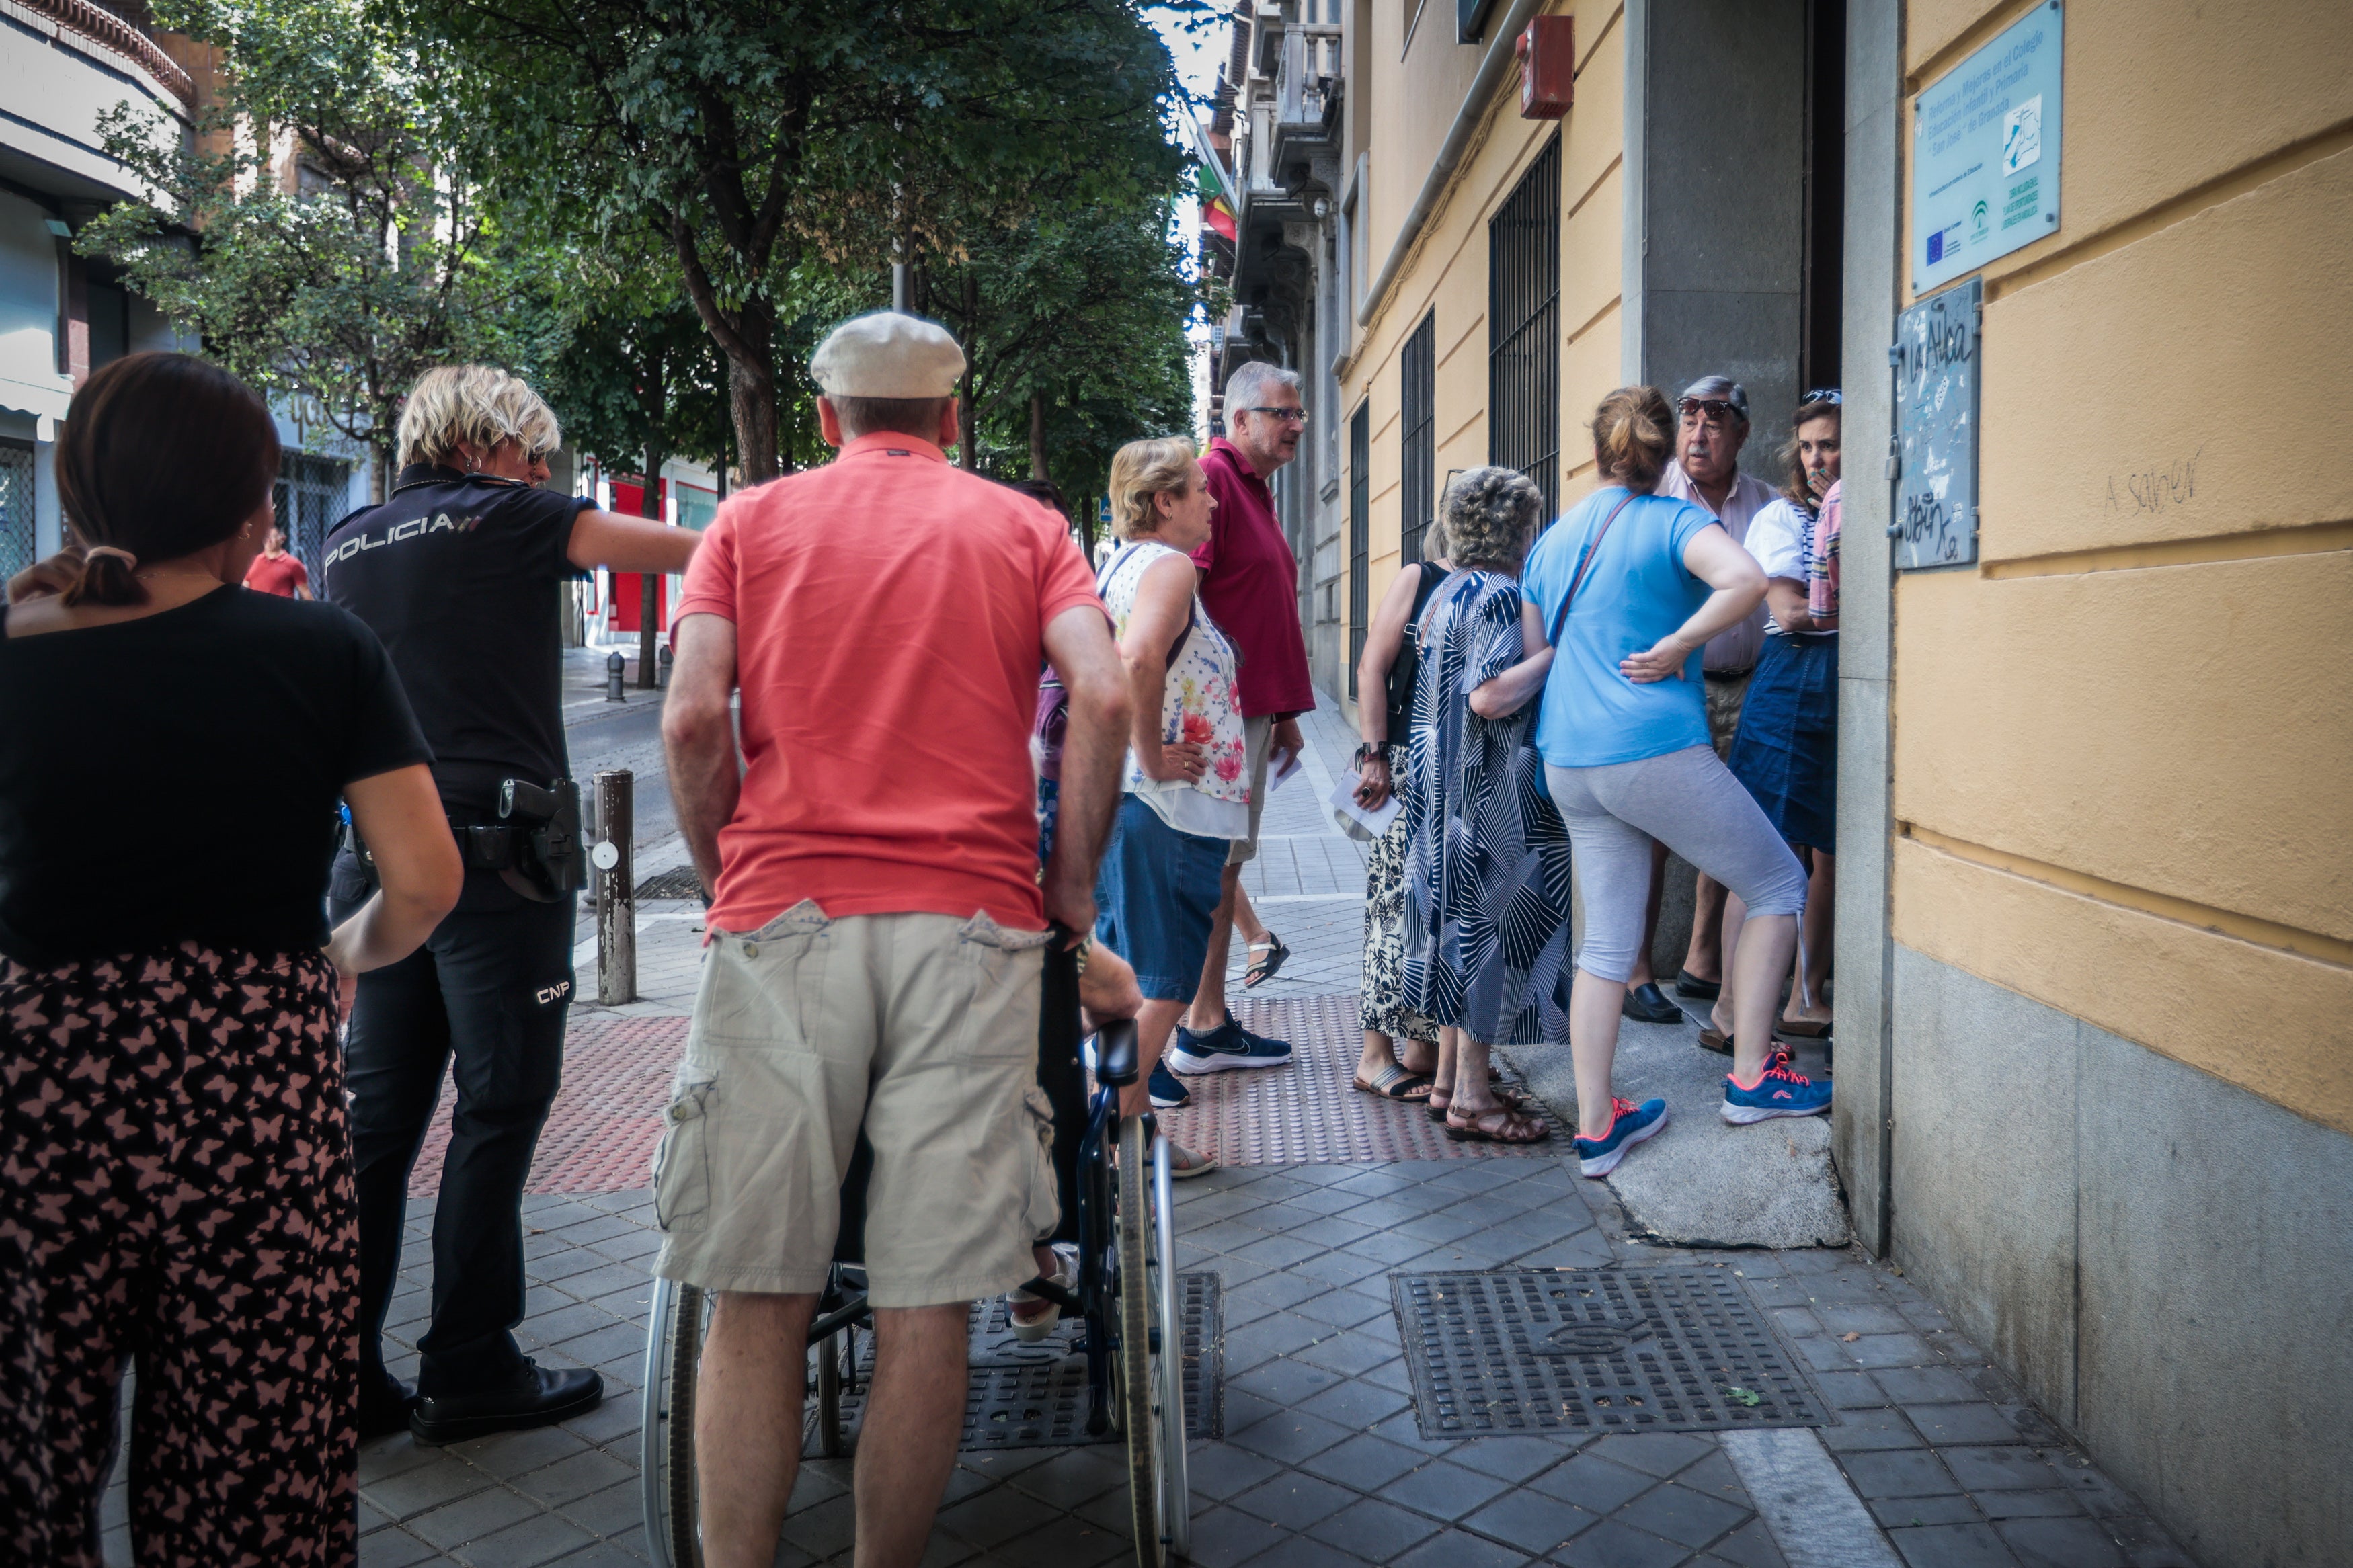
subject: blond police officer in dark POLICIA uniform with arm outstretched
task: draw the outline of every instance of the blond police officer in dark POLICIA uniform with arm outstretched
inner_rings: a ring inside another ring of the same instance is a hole
[[[360,1432],[449,1443],[569,1420],[593,1371],[536,1366],[522,1321],[522,1180],[555,1098],[584,882],[562,726],[562,583],[588,567],[685,571],[699,541],[534,489],[555,414],[501,369],[426,371],[400,414],[400,477],[325,545],[325,597],[365,621],[433,745],[466,860],[456,910],[402,964],[360,978],[346,1046],[360,1175]],[[504,809],[504,813],[501,813]],[[336,860],[336,917],[367,898],[365,844]],[[384,1368],[409,1168],[442,1070],[456,1114],[433,1211],[433,1321],[416,1392]]]

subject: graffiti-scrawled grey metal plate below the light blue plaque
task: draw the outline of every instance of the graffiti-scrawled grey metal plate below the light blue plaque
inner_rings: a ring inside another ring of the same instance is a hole
[[[1897,503],[1887,536],[1894,564],[1958,567],[1977,559],[1977,348],[1984,284],[1897,317]]]

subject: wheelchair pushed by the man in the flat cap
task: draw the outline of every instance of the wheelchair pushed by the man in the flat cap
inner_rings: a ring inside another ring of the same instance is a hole
[[[1033,1279],[1026,1291],[1061,1307],[1066,1321],[1082,1324],[1087,1436],[1115,1434],[1125,1441],[1134,1561],[1139,1568],[1165,1568],[1191,1544],[1169,1150],[1151,1112],[1141,1119],[1120,1114],[1120,1088],[1136,1081],[1134,1023],[1106,1023],[1096,1037],[1092,1095],[1085,1091],[1075,1044],[1075,957],[1052,950],[1038,1077],[1054,1105],[1056,1178],[1066,1218],[1075,1211],[1078,1279],[1071,1291],[1042,1279]],[[809,1321],[809,1425],[821,1458],[847,1453],[842,1399],[856,1392],[856,1335],[873,1333],[866,1274],[856,1265],[871,1166],[873,1150],[861,1133],[842,1182],[835,1262]],[[711,1300],[701,1288],[654,1281],[640,1443],[645,1540],[656,1568],[704,1563],[694,1490],[694,1380],[708,1326]]]

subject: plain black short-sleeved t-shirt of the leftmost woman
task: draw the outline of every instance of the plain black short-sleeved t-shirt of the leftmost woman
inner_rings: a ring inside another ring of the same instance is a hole
[[[365,625],[216,588],[136,621],[5,632],[0,611],[0,954],[325,945],[336,797],[431,762]]]

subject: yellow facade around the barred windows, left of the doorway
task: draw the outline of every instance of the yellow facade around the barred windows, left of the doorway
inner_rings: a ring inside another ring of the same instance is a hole
[[[1431,0],[1412,45],[1402,40],[1402,7],[1374,5],[1372,49],[1355,54],[1369,80],[1348,82],[1367,94],[1369,242],[1365,280],[1381,268],[1428,176],[1485,47],[1454,42],[1454,16]],[[1362,12],[1360,12],[1362,14]],[[1522,120],[1520,80],[1506,73],[1471,153],[1454,174],[1445,205],[1424,223],[1417,252],[1400,268],[1369,324],[1355,327],[1341,374],[1341,418],[1372,400],[1369,569],[1367,607],[1379,607],[1400,564],[1402,374],[1400,350],[1433,308],[1435,324],[1435,484],[1447,473],[1487,461],[1487,219],[1511,195],[1527,165],[1555,134],[1560,143],[1560,501],[1591,487],[1591,440],[1584,425],[1593,404],[1617,386],[1619,371],[1619,235],[1624,193],[1619,165],[1626,143],[1624,5],[1553,5],[1548,14],[1577,19],[1577,106],[1565,120]],[[1362,284],[1360,284],[1362,287]],[[1348,442],[1341,440],[1346,465]],[[1353,482],[1341,475],[1341,494]],[[1435,501],[1433,501],[1435,505]],[[1344,567],[1346,571],[1346,567]],[[1339,597],[1346,602],[1348,581]],[[1351,715],[1353,717],[1353,715]]]

